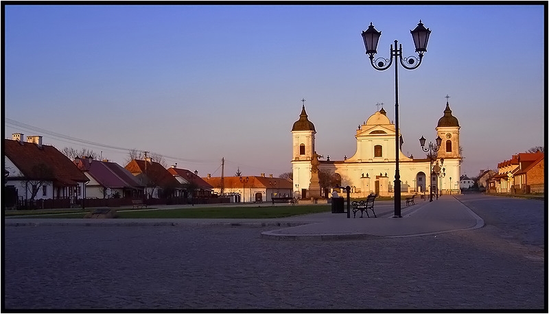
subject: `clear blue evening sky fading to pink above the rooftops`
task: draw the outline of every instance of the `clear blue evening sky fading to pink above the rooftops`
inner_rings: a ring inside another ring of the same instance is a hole
[[[419,3],[419,2],[418,2]],[[460,124],[462,174],[546,143],[544,5],[5,5],[4,138],[43,136],[126,165],[160,154],[199,176],[292,171],[292,125],[305,110],[316,151],[355,154],[355,130],[395,119],[395,64],[376,58],[410,30],[432,33],[418,69],[398,64],[402,152],[424,158],[446,101]],[[4,5],[4,3],[2,3]],[[446,96],[449,98],[446,98]]]

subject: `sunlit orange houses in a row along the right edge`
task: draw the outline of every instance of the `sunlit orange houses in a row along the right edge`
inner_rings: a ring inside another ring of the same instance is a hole
[[[519,153],[498,163],[498,173],[487,180],[487,192],[530,194],[544,193],[545,154]]]

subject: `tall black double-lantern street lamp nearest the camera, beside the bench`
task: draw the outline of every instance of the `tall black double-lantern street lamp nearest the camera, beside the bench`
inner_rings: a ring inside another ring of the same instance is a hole
[[[429,35],[431,34],[430,29],[425,28],[421,20],[414,30],[410,31],[412,34],[412,39],[414,40],[414,45],[416,47],[416,52],[418,56],[409,56],[402,57],[402,45],[398,45],[398,41],[395,40],[395,47],[390,45],[390,58],[377,58],[374,62],[375,53],[377,53],[377,43],[379,42],[379,37],[382,35],[382,32],[377,32],[373,27],[372,23],[366,31],[362,32],[362,39],[364,40],[364,47],[366,47],[366,54],[369,55],[370,63],[372,67],[378,71],[385,71],[389,69],[393,60],[397,57],[399,58],[400,64],[404,69],[413,70],[419,67],[421,60],[423,60],[423,53],[427,51],[427,43],[429,40]],[[397,48],[398,47],[398,48]],[[398,64],[395,62],[395,215],[393,217],[402,217],[400,212],[401,200],[400,200],[400,173],[399,173],[399,151],[400,151],[400,141],[399,141],[399,75],[398,75]]]

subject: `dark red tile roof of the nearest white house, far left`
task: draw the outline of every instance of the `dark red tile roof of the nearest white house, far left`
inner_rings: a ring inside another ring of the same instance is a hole
[[[35,143],[4,139],[4,155],[14,163],[25,178],[32,178],[33,167],[44,164],[51,167],[54,178],[51,180],[55,186],[75,186],[78,182],[89,181],[73,164],[73,162],[59,152],[56,147]]]

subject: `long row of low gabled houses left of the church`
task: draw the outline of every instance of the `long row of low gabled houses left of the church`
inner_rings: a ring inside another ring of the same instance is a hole
[[[42,136],[12,134],[4,139],[6,205],[65,208],[147,204],[270,202],[292,196],[292,181],[261,176],[200,178],[198,171],[165,168],[151,158],[116,162],[80,156],[70,160]]]

